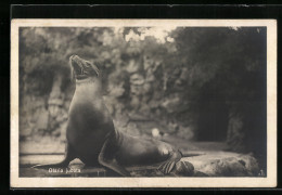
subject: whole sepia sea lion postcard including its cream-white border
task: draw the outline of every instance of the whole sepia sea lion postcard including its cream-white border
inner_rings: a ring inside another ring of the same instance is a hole
[[[275,186],[275,21],[11,26],[11,186]]]

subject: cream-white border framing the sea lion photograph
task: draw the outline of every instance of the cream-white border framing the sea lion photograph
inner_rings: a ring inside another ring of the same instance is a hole
[[[267,27],[267,178],[18,178],[18,27]],[[12,20],[11,187],[274,187],[277,185],[275,20]]]

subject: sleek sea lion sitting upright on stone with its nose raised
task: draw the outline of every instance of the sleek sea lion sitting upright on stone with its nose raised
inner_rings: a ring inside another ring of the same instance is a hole
[[[34,168],[67,167],[79,158],[86,166],[102,165],[124,177],[130,176],[125,166],[158,162],[158,170],[170,173],[181,159],[181,152],[166,142],[117,131],[103,102],[101,75],[95,64],[78,55],[72,55],[69,64],[76,90],[68,112],[65,158]]]

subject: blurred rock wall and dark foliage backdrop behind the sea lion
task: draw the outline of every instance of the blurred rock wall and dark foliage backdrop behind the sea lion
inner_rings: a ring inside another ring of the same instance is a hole
[[[20,152],[63,148],[75,90],[68,57],[77,54],[101,69],[118,130],[188,147],[220,142],[266,166],[266,35],[264,27],[22,27]]]

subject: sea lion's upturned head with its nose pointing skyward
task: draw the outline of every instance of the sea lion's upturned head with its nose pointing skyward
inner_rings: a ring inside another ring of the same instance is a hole
[[[72,69],[72,77],[76,79],[76,81],[84,81],[90,78],[99,77],[98,67],[84,58],[80,58],[78,55],[72,55],[69,57],[69,65]]]

